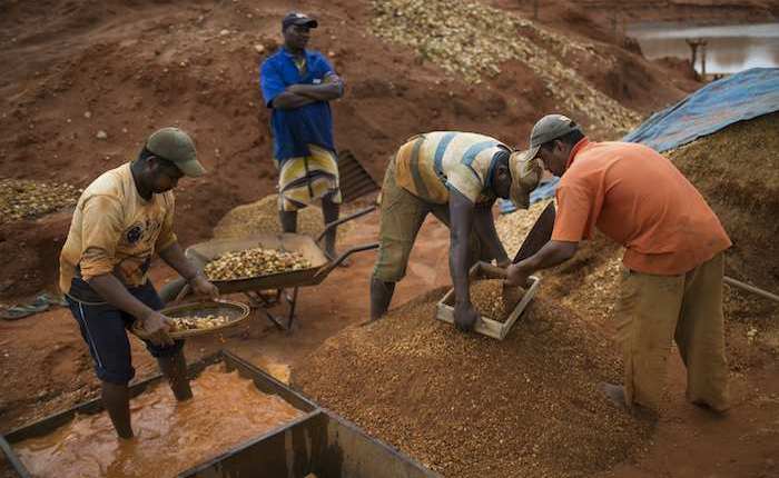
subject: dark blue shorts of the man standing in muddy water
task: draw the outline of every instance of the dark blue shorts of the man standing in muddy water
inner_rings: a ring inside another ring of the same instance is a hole
[[[160,310],[164,306],[151,282],[128,291],[154,310]],[[118,385],[129,382],[136,370],[132,368],[127,329],[132,326],[135,317],[110,303],[95,305],[79,302],[67,296],[66,298],[81,329],[81,337],[89,346],[98,378]],[[172,346],[166,347],[156,346],[148,340],[144,342],[149,352],[157,358],[174,356],[184,347],[184,340],[176,340]]]

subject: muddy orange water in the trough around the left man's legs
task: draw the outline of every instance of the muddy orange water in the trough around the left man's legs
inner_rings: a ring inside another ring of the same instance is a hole
[[[207,368],[191,386],[195,398],[183,404],[167,384],[135,398],[132,440],[117,439],[102,412],[14,448],[36,477],[174,477],[303,415],[224,365]]]

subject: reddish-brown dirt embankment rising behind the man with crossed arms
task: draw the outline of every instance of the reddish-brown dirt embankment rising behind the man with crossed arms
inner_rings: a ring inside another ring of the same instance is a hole
[[[377,177],[387,155],[422,130],[477,130],[523,145],[533,121],[548,111],[593,127],[598,121],[598,111],[571,110],[521,61],[501,64],[497,77],[474,87],[412,48],[376,38],[371,3],[314,0],[302,8],[321,20],[310,47],[325,52],[346,79],[346,97],[334,104],[337,146],[354,151]],[[257,66],[277,48],[279,18],[288,9],[268,0],[3,2],[0,176],[85,187],[132,159],[151,131],[177,125],[195,137],[209,175],[183,181],[176,227],[185,243],[208,238],[227,210],[274,189],[269,112],[262,104]],[[578,24],[582,14],[562,21]],[[586,29],[555,30],[558,23],[539,24],[561,38],[573,34],[571,41],[583,48],[558,48],[568,40],[542,38],[538,29],[520,33],[550,59],[578,64],[582,84],[644,114],[682,96],[668,86],[665,70],[604,42],[598,29],[588,37]],[[592,67],[598,59],[608,61]],[[16,251],[17,266],[0,272],[8,286],[0,297],[53,283],[56,263],[39,257],[56,257],[66,222],[43,235],[51,238],[46,241],[27,240],[22,232],[38,236],[38,228],[50,226],[27,221],[21,232],[2,228],[11,241],[3,251]]]

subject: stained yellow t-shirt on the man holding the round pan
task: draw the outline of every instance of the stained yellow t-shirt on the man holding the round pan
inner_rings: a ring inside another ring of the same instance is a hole
[[[127,287],[142,286],[155,251],[177,240],[172,222],[172,191],[145,200],[129,162],[102,173],[76,206],[60,253],[60,289],[69,293],[73,278],[87,281],[109,272]]]

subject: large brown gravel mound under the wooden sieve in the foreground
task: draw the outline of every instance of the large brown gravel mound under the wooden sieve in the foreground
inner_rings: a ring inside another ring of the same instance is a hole
[[[327,340],[293,382],[448,477],[589,476],[648,438],[598,389],[621,367],[591,323],[536,299],[496,341],[434,320],[442,295]]]

